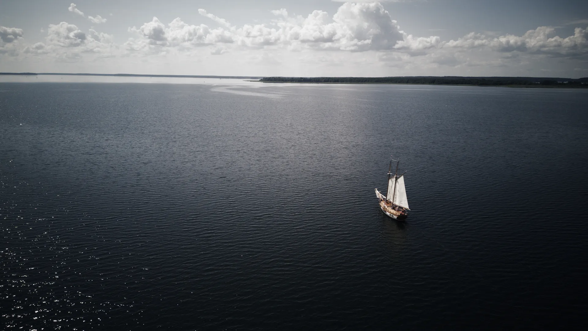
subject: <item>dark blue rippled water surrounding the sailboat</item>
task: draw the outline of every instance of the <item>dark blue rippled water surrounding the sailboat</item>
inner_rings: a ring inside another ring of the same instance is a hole
[[[587,104],[586,90],[2,83],[2,327],[577,322]],[[373,191],[390,154],[404,223]]]

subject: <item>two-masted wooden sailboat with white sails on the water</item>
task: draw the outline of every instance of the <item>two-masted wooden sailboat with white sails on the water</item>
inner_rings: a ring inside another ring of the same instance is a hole
[[[392,173],[392,161],[396,161],[396,171],[394,176],[391,177]],[[386,196],[384,196],[376,188],[376,197],[380,200],[380,208],[387,215],[395,220],[406,220],[408,217],[407,210],[408,200],[406,198],[406,188],[404,186],[404,174],[398,176],[398,166],[400,161],[390,160],[390,166],[388,167],[388,190]],[[406,172],[405,172],[406,173]]]

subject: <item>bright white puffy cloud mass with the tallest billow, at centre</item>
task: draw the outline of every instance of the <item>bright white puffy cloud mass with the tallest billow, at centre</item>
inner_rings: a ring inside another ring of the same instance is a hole
[[[157,18],[146,22],[140,28],[132,27],[141,38],[131,41],[131,48],[137,44],[171,46],[181,43],[191,45],[233,43],[244,48],[265,48],[285,46],[293,48],[340,49],[343,51],[368,51],[393,49],[399,41],[405,41],[401,48],[425,48],[425,44],[437,43],[436,39],[425,40],[408,37],[400,31],[396,21],[379,3],[346,3],[339,7],[332,17],[324,11],[313,11],[306,18],[289,18],[286,9],[272,11],[282,16],[275,20],[276,27],[265,24],[232,27],[225,19],[199,9],[199,14],[222,25],[212,29],[207,25],[188,25],[180,18],[166,27]]]

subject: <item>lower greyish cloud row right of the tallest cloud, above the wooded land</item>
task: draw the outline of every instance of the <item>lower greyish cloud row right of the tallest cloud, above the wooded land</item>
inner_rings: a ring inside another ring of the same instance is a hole
[[[471,32],[450,41],[407,35],[392,51],[380,52],[378,59],[389,67],[404,70],[422,71],[428,68],[439,72],[441,68],[451,68],[453,71],[449,73],[455,75],[457,72],[469,72],[472,68],[492,68],[488,72],[503,70],[502,74],[508,75],[511,72],[506,68],[528,68],[538,61],[563,65],[564,62],[559,60],[550,62],[553,58],[587,61],[587,31],[588,28],[576,28],[573,35],[563,38],[556,35],[553,27],[538,27],[521,36],[505,34],[489,37]]]

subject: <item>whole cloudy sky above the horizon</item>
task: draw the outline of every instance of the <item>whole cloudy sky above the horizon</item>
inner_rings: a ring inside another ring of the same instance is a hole
[[[0,0],[0,72],[588,77],[588,1]]]

